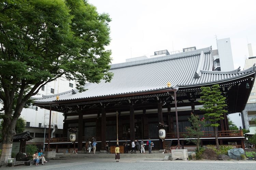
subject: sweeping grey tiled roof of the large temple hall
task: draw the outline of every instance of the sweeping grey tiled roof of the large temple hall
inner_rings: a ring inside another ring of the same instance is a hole
[[[167,89],[167,82],[170,82],[174,88],[208,84],[234,79],[250,73],[250,71],[235,73],[236,70],[217,72],[211,71],[212,68],[211,47],[141,61],[113,64],[110,69],[110,72],[114,73],[111,82],[105,83],[102,80],[99,84],[88,83],[84,86],[88,90],[84,92],[75,90],[77,93],[74,95],[72,91],[67,91],[44,96],[44,98],[35,100],[35,103],[55,101],[57,95],[59,101],[65,101],[156,91]],[[195,72],[199,74],[200,78],[194,78]]]

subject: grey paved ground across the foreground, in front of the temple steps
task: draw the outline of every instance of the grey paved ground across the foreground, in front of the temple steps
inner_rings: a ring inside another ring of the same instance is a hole
[[[113,159],[59,159],[50,160],[45,165],[39,166],[16,166],[16,167],[2,167],[1,170],[13,169],[51,169],[51,170],[84,170],[84,169],[182,169],[182,170],[198,170],[198,169],[232,169],[232,170],[255,170],[256,161],[162,161],[162,160],[145,160],[145,159],[120,159],[120,162],[115,162]]]

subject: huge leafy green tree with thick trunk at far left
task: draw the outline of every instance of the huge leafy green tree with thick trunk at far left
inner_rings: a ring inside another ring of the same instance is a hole
[[[86,0],[0,0],[0,162],[10,158],[23,107],[46,83],[64,76],[83,91],[110,81],[110,21]]]

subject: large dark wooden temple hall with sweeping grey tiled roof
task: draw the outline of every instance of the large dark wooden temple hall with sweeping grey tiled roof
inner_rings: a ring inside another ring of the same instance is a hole
[[[94,136],[97,148],[105,150],[105,142],[119,145],[125,139],[148,139],[155,148],[162,149],[158,137],[159,123],[166,127],[166,141],[177,145],[176,112],[181,145],[186,145],[183,134],[190,126],[191,113],[203,119],[199,110],[200,87],[219,84],[226,97],[227,115],[242,112],[255,78],[255,66],[246,70],[213,71],[212,48],[180,52],[172,55],[143,58],[112,64],[111,82],[88,83],[84,92],[70,90],[44,96],[34,105],[65,116],[63,138],[50,138],[51,148],[69,148],[69,128],[77,130],[77,148]],[[176,103],[175,103],[176,101]],[[176,105],[176,107],[175,107]],[[227,115],[219,122],[218,139],[221,145],[235,142],[244,147],[242,132],[229,131]],[[117,125],[118,122],[118,125]],[[117,130],[118,129],[118,130]],[[202,144],[215,145],[213,128],[203,127]]]

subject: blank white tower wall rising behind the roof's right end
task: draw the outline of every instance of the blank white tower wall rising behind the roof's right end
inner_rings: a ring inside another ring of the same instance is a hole
[[[219,53],[219,62],[221,63],[221,71],[234,70],[230,38],[218,39],[217,48]]]

